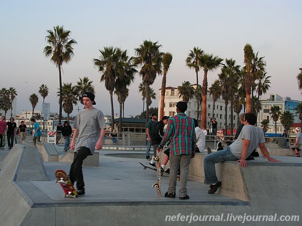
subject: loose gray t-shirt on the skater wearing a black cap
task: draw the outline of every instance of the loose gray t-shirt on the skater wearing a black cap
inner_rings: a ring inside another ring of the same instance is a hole
[[[93,154],[101,129],[106,129],[103,112],[97,108],[81,110],[75,117],[72,127],[79,130],[74,150],[79,151],[81,147],[87,147]]]

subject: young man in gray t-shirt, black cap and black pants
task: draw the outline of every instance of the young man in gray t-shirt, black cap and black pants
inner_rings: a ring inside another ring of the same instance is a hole
[[[106,124],[103,112],[93,107],[95,95],[92,92],[86,92],[83,95],[85,110],[81,110],[73,124],[73,137],[70,143],[70,149],[77,151],[75,158],[70,166],[69,178],[74,184],[77,181],[78,195],[85,194],[85,183],[83,179],[82,165],[84,159],[93,155],[94,150],[102,149],[105,136]],[[79,136],[78,136],[79,135]],[[78,136],[77,143],[75,139]]]

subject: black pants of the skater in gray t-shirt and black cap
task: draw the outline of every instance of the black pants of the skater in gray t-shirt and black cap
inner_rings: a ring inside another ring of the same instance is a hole
[[[70,166],[69,178],[72,184],[77,181],[78,190],[83,190],[85,186],[82,166],[84,159],[86,159],[89,155],[92,155],[90,149],[86,147],[81,147],[78,153],[75,154],[73,162]]]

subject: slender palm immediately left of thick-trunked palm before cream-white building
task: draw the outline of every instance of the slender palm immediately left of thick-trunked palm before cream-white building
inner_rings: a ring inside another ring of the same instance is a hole
[[[198,47],[194,47],[190,50],[190,53],[186,59],[186,66],[190,69],[194,68],[196,73],[196,84],[197,84],[197,120],[199,119],[199,85],[198,85],[198,71],[201,67],[199,57],[204,53],[203,50]]]

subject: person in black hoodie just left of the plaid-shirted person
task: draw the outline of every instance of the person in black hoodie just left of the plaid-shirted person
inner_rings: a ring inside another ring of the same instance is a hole
[[[153,157],[152,160],[150,161],[150,165],[152,166],[156,166],[155,165],[155,161],[154,161],[154,157],[157,156],[156,152],[157,152],[157,147],[159,146],[159,144],[161,143],[161,141],[163,140],[164,137],[164,127],[165,125],[168,124],[168,120],[169,120],[169,116],[164,116],[163,119],[158,122],[155,126],[155,129],[151,135],[151,144],[153,146]]]

